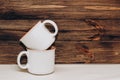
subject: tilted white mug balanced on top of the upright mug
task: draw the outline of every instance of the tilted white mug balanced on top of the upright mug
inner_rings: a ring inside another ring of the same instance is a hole
[[[49,23],[53,25],[55,32],[51,33],[45,24]],[[49,48],[55,41],[55,36],[58,33],[58,27],[55,22],[51,20],[45,20],[41,23],[39,21],[32,29],[30,29],[20,41],[30,49],[45,50]]]

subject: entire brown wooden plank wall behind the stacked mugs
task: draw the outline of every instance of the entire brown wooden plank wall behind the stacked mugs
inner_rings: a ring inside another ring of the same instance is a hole
[[[56,63],[120,63],[120,0],[0,0],[0,64],[39,20],[59,26]]]

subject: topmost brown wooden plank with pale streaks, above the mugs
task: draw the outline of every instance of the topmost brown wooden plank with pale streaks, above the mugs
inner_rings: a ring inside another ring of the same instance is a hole
[[[0,19],[120,19],[119,0],[1,0]]]

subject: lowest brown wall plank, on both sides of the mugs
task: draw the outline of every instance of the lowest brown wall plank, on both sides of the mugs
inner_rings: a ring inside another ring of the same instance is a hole
[[[120,63],[120,42],[56,41],[54,45],[56,63]],[[18,41],[0,41],[0,64],[15,64],[22,50]]]

